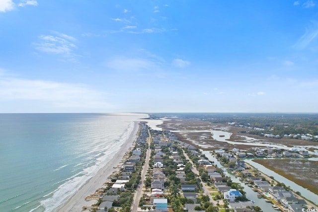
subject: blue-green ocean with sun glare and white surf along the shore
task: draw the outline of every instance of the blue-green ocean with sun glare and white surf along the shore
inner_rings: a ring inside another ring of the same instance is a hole
[[[0,114],[0,211],[52,211],[75,194],[146,114]]]

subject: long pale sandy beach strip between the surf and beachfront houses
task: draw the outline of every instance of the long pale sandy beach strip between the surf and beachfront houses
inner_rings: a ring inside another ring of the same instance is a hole
[[[109,158],[106,159],[107,163],[102,167],[96,175],[88,180],[84,186],[82,186],[78,192],[70,197],[67,202],[62,206],[54,210],[54,212],[79,212],[82,211],[83,206],[90,206],[90,201],[85,201],[85,197],[95,193],[107,180],[107,178],[113,173],[113,167],[116,167],[123,159],[125,153],[133,146],[137,137],[140,121],[134,122],[134,129],[129,138],[123,143],[118,152],[114,152]]]

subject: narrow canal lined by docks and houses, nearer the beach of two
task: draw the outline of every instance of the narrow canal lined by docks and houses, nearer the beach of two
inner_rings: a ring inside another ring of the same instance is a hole
[[[205,156],[209,158],[209,160],[213,161],[214,164],[218,165],[219,168],[224,167],[215,157],[212,156],[210,151],[202,151],[202,152],[203,154],[205,154]],[[224,174],[227,175],[228,177],[231,177],[233,182],[240,183],[241,186],[244,187],[243,190],[244,192],[246,192],[246,198],[249,200],[252,200],[254,202],[254,205],[260,207],[263,210],[263,212],[277,212],[272,208],[271,203],[265,202],[265,199],[258,199],[257,192],[254,192],[250,187],[248,187],[247,185],[239,181],[239,178],[236,178],[234,174],[230,172],[226,172],[226,171],[224,172]]]

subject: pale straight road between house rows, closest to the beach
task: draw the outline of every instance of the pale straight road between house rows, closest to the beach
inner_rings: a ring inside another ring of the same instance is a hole
[[[150,146],[150,142],[151,142],[151,134],[150,134],[150,131],[148,130],[149,132],[149,138],[147,139],[148,140],[148,144]],[[139,201],[140,201],[140,198],[141,198],[141,194],[143,192],[143,186],[144,186],[144,181],[145,181],[145,178],[146,178],[146,173],[147,173],[147,170],[148,170],[148,165],[149,165],[149,160],[150,160],[150,153],[151,153],[151,149],[148,147],[147,148],[147,152],[146,152],[146,161],[145,161],[145,164],[144,164],[144,167],[143,167],[143,170],[142,170],[142,174],[141,174],[141,181],[140,181],[140,184],[138,185],[137,187],[137,191],[134,195],[134,200],[133,200],[133,207],[132,207],[132,212],[137,212],[137,208],[138,208],[138,204],[139,204]]]

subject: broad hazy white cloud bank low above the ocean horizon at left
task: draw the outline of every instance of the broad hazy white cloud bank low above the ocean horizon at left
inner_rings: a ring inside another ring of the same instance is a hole
[[[0,100],[43,101],[58,108],[107,108],[105,94],[85,85],[0,76]]]

